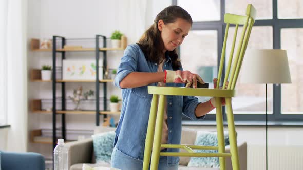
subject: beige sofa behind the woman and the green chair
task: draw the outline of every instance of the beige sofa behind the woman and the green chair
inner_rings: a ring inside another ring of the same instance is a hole
[[[94,134],[115,131],[115,128],[109,127],[97,127]],[[194,144],[196,140],[197,131],[189,128],[182,128],[181,144]],[[68,148],[68,166],[70,170],[81,170],[83,163],[91,166],[104,166],[110,167],[108,163],[96,164],[93,153],[92,138],[81,141],[73,141],[66,144]],[[225,147],[226,152],[230,152],[230,147]],[[185,152],[181,150],[181,152]],[[247,143],[244,141],[238,141],[238,152],[240,169],[247,169]],[[206,168],[206,167],[187,167],[190,157],[180,157],[179,169],[180,170],[215,170],[219,168]],[[232,170],[231,158],[226,157],[226,170]]]

